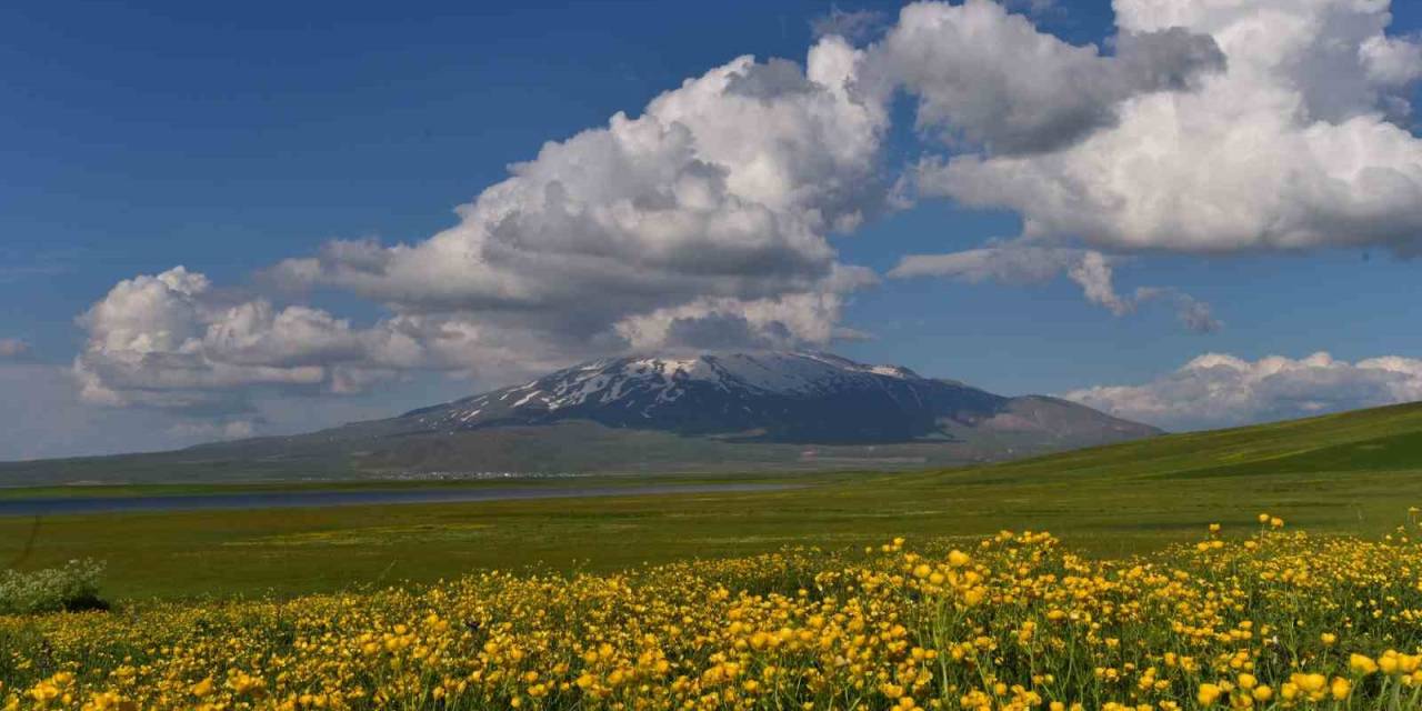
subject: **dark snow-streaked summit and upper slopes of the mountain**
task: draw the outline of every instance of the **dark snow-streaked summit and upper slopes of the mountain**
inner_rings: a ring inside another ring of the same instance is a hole
[[[1150,428],[1079,408],[1122,438]],[[550,375],[402,415],[411,429],[468,431],[560,421],[782,442],[903,442],[951,437],[1001,419],[1027,427],[1022,398],[899,365],[866,365],[826,353],[704,353],[584,363]],[[1005,418],[1004,418],[1005,415]],[[1118,425],[1119,424],[1119,425]]]

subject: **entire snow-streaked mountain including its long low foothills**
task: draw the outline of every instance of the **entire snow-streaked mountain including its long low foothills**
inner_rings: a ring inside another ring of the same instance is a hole
[[[1065,400],[1003,397],[825,353],[584,363],[520,385],[292,437],[0,465],[0,485],[886,469],[1139,439]]]

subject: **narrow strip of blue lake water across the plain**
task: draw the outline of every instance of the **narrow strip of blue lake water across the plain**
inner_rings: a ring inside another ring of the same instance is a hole
[[[590,496],[647,496],[658,493],[722,493],[788,489],[781,483],[704,483],[650,486],[528,486],[479,489],[384,489],[257,493],[201,493],[178,496],[91,496],[74,499],[0,499],[0,516],[53,516],[203,509],[290,509],[311,506],[368,506],[380,503],[447,503],[516,499],[582,499]]]

